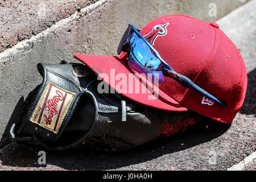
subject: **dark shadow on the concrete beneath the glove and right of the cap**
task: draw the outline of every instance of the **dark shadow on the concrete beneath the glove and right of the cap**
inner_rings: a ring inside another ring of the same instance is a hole
[[[241,113],[246,115],[255,114],[256,69],[247,76],[247,92],[241,109]],[[46,151],[46,163],[51,165],[47,169],[105,170],[143,163],[165,154],[183,151],[201,143],[209,142],[224,134],[230,126],[204,118],[192,130],[188,130],[187,133],[174,138],[155,140],[125,152],[93,150],[86,147],[73,148],[72,150],[61,152]],[[12,143],[3,148],[0,154],[2,165],[5,166],[44,167],[38,165],[39,156],[37,151],[31,152],[21,144]]]

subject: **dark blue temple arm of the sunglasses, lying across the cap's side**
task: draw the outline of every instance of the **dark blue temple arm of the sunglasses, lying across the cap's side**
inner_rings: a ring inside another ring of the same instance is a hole
[[[210,100],[216,102],[217,104],[226,107],[226,104],[224,102],[221,102],[216,97],[212,96],[212,94],[208,93],[204,89],[200,88],[200,86],[193,83],[188,77],[185,77],[183,75],[180,75],[179,73],[175,71],[171,71],[170,69],[163,68],[163,73],[165,76],[168,76],[175,81],[177,81],[181,86],[184,86],[185,88],[192,89],[196,91],[197,93],[200,93],[201,95],[209,98]]]

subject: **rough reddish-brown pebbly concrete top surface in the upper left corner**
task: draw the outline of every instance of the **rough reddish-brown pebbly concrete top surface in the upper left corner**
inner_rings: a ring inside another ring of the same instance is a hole
[[[0,52],[98,0],[0,1]]]

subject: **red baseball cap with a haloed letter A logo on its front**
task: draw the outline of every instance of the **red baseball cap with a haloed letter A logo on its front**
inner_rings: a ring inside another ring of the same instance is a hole
[[[148,89],[146,78],[132,74],[124,52],[121,56],[76,54],[74,57],[115,91],[133,101],[170,111],[190,109],[216,121],[232,123],[245,98],[247,73],[240,52],[218,24],[185,15],[167,15],[152,20],[140,33],[177,73],[190,78],[227,106],[218,105],[169,77],[164,77],[165,81],[158,85],[157,91],[139,92],[138,89]],[[114,81],[109,78],[118,74]],[[128,79],[122,80],[120,75],[139,80],[139,83],[135,85]],[[152,99],[155,95],[157,97]]]

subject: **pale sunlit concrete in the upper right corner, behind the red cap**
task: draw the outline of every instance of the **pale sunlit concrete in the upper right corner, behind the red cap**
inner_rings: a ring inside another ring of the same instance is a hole
[[[256,67],[256,3],[250,1],[245,6],[218,20],[220,28],[240,50],[247,73]]]

